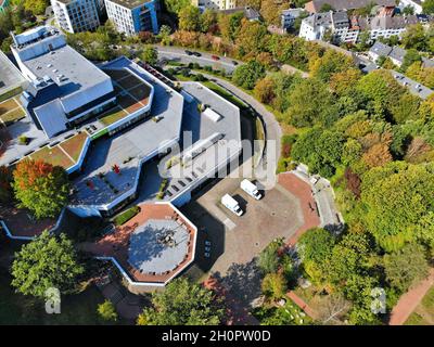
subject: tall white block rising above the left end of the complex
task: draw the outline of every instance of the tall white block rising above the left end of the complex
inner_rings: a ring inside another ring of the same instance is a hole
[[[12,38],[12,53],[29,81],[23,106],[48,138],[115,102],[110,76],[67,46],[59,29],[40,26]]]

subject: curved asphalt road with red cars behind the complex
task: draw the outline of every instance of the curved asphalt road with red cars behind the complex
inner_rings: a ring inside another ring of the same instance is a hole
[[[218,61],[213,60],[210,53],[193,50],[193,49],[182,49],[182,48],[177,48],[177,47],[167,47],[167,46],[155,46],[157,52],[158,52],[158,60],[171,60],[171,61],[177,61],[179,63],[199,63],[203,66],[210,65],[213,66],[214,69],[225,69],[227,73],[231,74],[235,67],[242,62],[238,62],[238,64],[234,64],[235,62],[232,59],[228,59],[225,56],[220,56]],[[186,53],[186,50],[189,50],[191,52],[199,52],[201,53],[201,56],[195,56],[195,55],[188,55]]]

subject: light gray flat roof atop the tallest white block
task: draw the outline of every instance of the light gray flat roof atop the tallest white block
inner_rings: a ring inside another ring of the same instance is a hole
[[[49,76],[60,85],[63,95],[93,87],[110,77],[69,46],[36,56],[24,64],[37,76]],[[56,77],[64,75],[59,82]]]

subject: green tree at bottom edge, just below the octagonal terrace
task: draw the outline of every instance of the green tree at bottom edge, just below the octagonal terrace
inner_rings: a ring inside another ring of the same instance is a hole
[[[151,308],[138,318],[142,325],[217,325],[224,309],[215,294],[186,278],[171,281],[164,292],[152,294]]]

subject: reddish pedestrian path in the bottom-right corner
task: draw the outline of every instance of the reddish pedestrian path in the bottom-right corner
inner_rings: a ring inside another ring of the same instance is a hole
[[[426,292],[434,285],[434,269],[429,277],[404,294],[391,312],[388,325],[403,325],[418,307]]]

